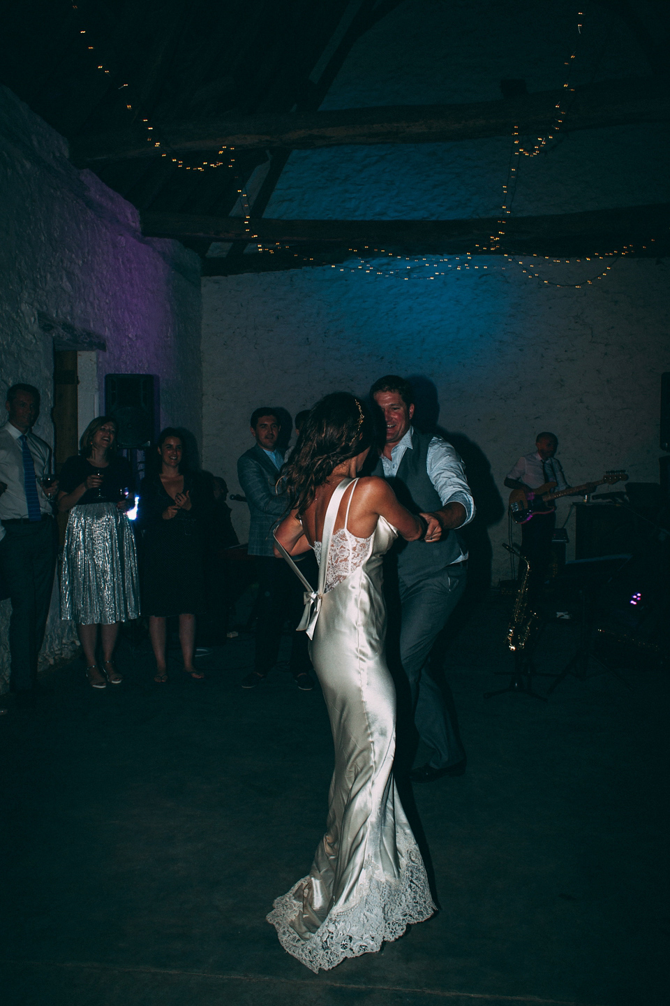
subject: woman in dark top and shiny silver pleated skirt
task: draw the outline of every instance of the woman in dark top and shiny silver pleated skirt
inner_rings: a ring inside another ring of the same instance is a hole
[[[88,424],[79,454],[68,458],[58,477],[58,509],[69,510],[60,572],[60,615],[74,621],[93,688],[120,684],[114,650],[122,622],[140,614],[135,536],[126,516],[133,472],[117,457],[117,424],[99,415]],[[99,626],[102,669],[95,648]]]

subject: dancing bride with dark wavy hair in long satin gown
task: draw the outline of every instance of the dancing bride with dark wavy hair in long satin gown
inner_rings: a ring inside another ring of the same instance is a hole
[[[336,765],[323,839],[309,875],[267,916],[289,954],[317,972],[379,951],[435,911],[426,870],[392,776],[396,695],[384,655],[382,559],[397,534],[427,521],[383,479],[358,478],[374,441],[366,406],[337,392],[310,411],[283,470],[292,509],[277,555],[313,548],[318,589],[301,627],[330,717]],[[439,530],[435,533],[435,540]]]

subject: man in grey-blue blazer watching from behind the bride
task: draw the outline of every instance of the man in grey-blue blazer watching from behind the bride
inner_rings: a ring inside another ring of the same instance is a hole
[[[283,559],[273,551],[272,529],[286,513],[288,500],[279,482],[283,455],[277,450],[279,417],[269,405],[255,408],[250,420],[254,446],[237,462],[237,477],[251,514],[249,555],[256,556],[259,584],[254,669],[242,681],[255,688],[277,660],[286,618],[293,628],[302,614],[302,586]],[[301,691],[311,691],[309,657],[304,633],[293,633],[289,666]]]

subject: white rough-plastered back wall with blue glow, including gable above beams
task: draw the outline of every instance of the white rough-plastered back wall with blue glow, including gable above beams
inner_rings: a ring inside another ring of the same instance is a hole
[[[321,108],[491,101],[504,77],[525,79],[529,92],[561,88],[579,9],[571,0],[519,0],[513,10],[504,0],[406,0],[357,43]],[[574,83],[651,72],[612,12],[590,5],[584,22]],[[265,215],[489,215],[500,205],[510,145],[494,138],[297,151]],[[664,127],[565,135],[522,159],[513,212],[665,201],[667,158]],[[659,373],[670,365],[667,263],[623,260],[581,290],[539,285],[493,258],[395,265],[409,265],[410,279],[373,259],[368,273],[350,263],[203,281],[204,459],[231,491],[254,405],[294,413],[326,391],[365,392],[389,371],[434,382],[440,426],[461,435],[479,469],[484,522],[494,521],[494,578],[508,570],[499,546],[507,525],[486,465],[506,497],[504,475],[540,428],[559,434],[574,484],[622,466],[632,479],[658,479]],[[541,269],[556,283],[598,272],[593,263]],[[234,519],[244,538],[246,507],[235,504]]]

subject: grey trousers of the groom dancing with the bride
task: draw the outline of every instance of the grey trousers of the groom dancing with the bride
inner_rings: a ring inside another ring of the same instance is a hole
[[[431,674],[430,652],[463,596],[467,564],[454,562],[411,585],[399,578],[402,606],[400,660],[407,676],[419,739],[429,748],[428,765],[446,769],[465,758],[444,692]]]

